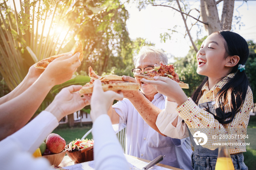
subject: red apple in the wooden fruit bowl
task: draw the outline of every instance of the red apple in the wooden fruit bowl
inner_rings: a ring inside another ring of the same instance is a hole
[[[50,134],[46,138],[46,148],[49,149],[53,154],[60,153],[66,146],[65,139],[61,138],[58,134]]]

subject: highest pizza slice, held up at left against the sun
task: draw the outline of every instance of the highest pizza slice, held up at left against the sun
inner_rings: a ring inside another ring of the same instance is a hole
[[[78,46],[76,46],[75,50],[73,50],[72,52],[53,55],[52,57],[48,57],[48,58],[42,59],[41,61],[38,61],[37,63],[35,63],[35,68],[46,69],[46,67],[49,65],[49,63],[51,63],[54,59],[63,57],[64,55],[70,55],[70,54],[74,55],[77,52],[80,53],[79,60],[82,61],[83,60],[83,43],[82,43],[82,41],[80,41],[78,43]]]

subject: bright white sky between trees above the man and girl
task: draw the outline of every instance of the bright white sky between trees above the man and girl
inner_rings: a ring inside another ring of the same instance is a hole
[[[256,1],[247,1],[248,5],[246,3],[242,5],[242,3],[243,1],[235,1],[234,16],[240,14],[241,23],[244,26],[240,30],[236,27],[232,31],[237,32],[246,40],[250,39],[256,42]],[[191,4],[195,4],[197,8],[199,7],[196,1],[192,0]],[[240,5],[242,6],[239,7]],[[221,11],[222,4],[220,3],[219,6],[219,10]],[[136,4],[129,4],[125,8],[130,14],[127,21],[127,28],[131,39],[136,39],[137,37],[145,38],[147,41],[155,43],[157,48],[163,49],[169,56],[184,57],[187,55],[191,42],[182,35],[185,31],[181,31],[182,34],[173,36],[172,40],[168,40],[166,43],[161,43],[160,39],[161,33],[166,32],[168,28],[173,28],[176,24],[181,26],[179,30],[184,30],[185,26],[180,13],[176,12],[174,14],[174,10],[168,7],[153,6],[148,6],[146,9],[139,11],[136,8]],[[235,24],[233,23],[233,25]],[[203,36],[206,35],[207,33],[204,32]]]

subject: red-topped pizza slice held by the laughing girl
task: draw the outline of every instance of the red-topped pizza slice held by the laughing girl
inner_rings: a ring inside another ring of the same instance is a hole
[[[178,82],[181,88],[188,89],[189,85],[176,79],[174,73],[175,73],[174,65],[170,64],[170,65],[157,66],[157,67],[154,67],[154,69],[152,70],[149,70],[147,72],[140,73],[140,74],[134,74],[133,76],[139,79],[145,78],[147,80],[155,80],[154,76],[168,77]]]

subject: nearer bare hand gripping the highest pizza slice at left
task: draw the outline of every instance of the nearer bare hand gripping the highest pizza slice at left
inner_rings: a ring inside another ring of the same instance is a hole
[[[42,78],[45,78],[45,81],[48,81],[53,86],[64,83],[72,78],[80,65],[79,53],[56,58],[46,67]]]

